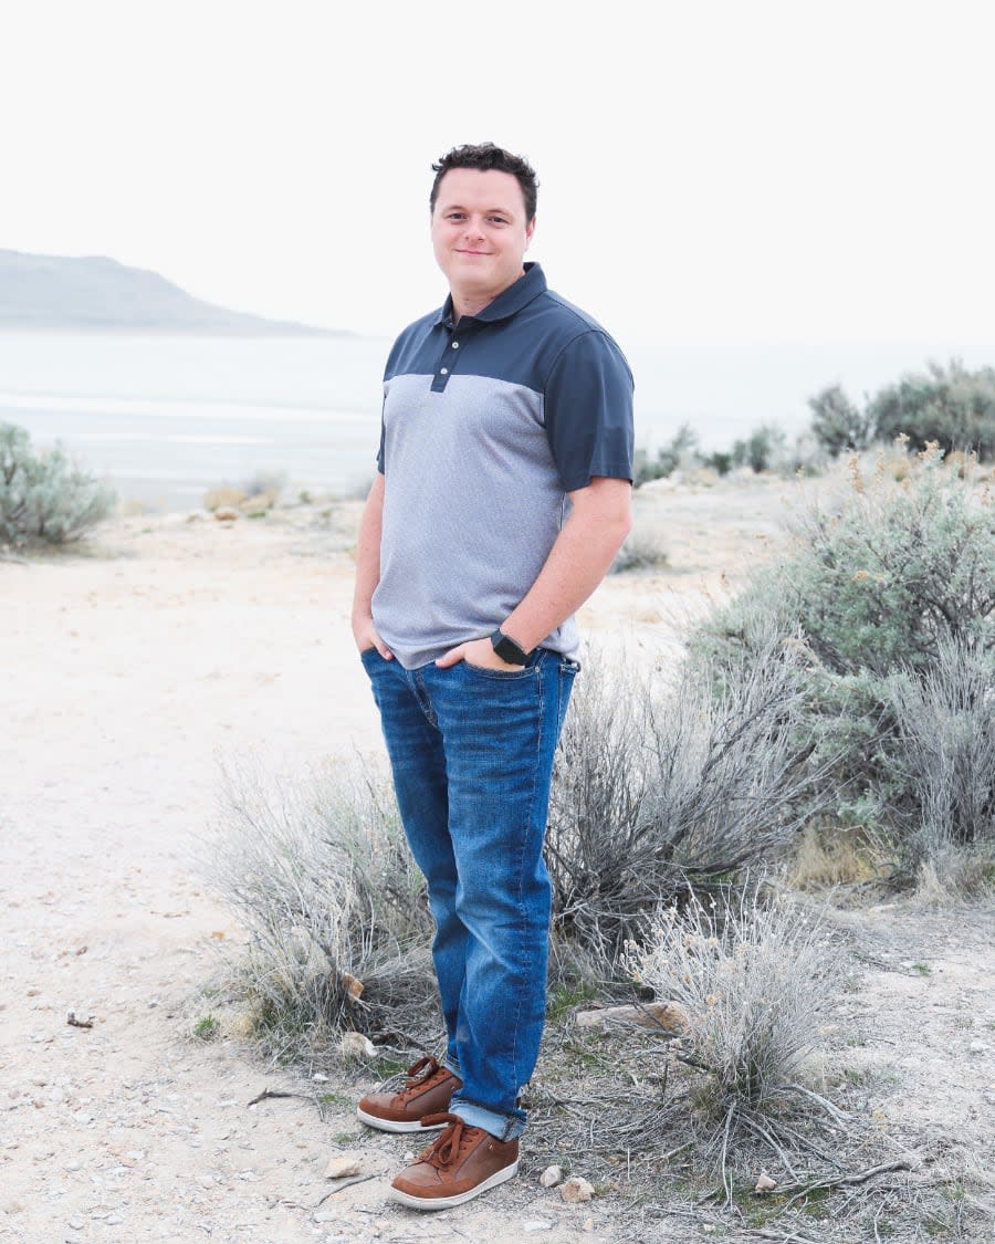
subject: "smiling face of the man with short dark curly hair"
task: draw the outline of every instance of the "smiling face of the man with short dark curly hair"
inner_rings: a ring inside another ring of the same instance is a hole
[[[512,173],[450,169],[439,182],[432,245],[454,299],[484,306],[514,285],[534,229]]]

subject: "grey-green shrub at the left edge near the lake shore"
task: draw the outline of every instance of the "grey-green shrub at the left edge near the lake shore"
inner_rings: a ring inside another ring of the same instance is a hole
[[[24,428],[0,423],[0,545],[65,544],[114,506],[114,493],[77,466],[61,445],[32,453]]]

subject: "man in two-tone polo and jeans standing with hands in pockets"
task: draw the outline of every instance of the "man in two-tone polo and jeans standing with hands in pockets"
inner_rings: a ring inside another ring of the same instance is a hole
[[[398,337],[363,511],[353,633],[425,875],[447,1028],[359,1118],[443,1127],[392,1184],[444,1209],[517,1171],[520,1088],[545,1015],[553,753],[573,613],[631,526],[632,376],[612,338],[525,264],[536,178],[493,144],[433,165],[439,311]]]

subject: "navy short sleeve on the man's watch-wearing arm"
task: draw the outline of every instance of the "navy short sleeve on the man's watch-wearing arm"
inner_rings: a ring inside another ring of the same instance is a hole
[[[546,378],[544,417],[565,491],[596,475],[633,478],[632,372],[606,332],[592,328],[563,347]]]

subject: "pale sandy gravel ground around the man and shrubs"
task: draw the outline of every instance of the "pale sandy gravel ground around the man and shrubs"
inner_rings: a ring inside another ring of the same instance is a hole
[[[797,486],[641,495],[669,566],[607,580],[586,631],[673,651],[776,544]],[[295,773],[382,746],[348,627],[354,519],[128,518],[86,549],[0,562],[2,1239],[634,1238],[536,1172],[442,1217],[389,1205],[396,1138],[357,1149],[376,1177],[335,1192],[323,1171],[351,1113],[249,1107],[285,1079],[183,1033],[218,940],[239,937],[199,862],[219,764],[251,749]],[[899,907],[845,919],[864,964],[846,1023],[859,1057],[894,1075],[883,1117],[944,1161],[990,1153],[995,926]],[[67,1024],[71,1010],[93,1026]]]

